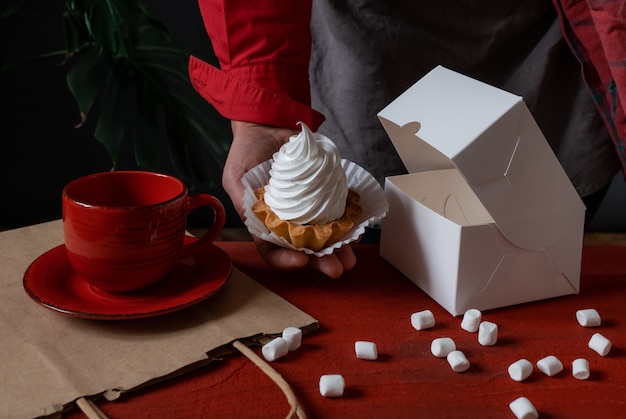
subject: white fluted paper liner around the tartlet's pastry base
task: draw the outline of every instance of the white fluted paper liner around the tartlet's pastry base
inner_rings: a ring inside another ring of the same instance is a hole
[[[355,220],[352,229],[342,239],[319,251],[298,248],[286,239],[271,232],[265,223],[256,216],[252,211],[252,206],[257,202],[254,191],[269,182],[272,160],[267,160],[251,169],[241,179],[245,187],[243,201],[244,215],[246,217],[245,224],[248,231],[254,236],[278,246],[303,251],[314,256],[329,255],[344,244],[357,240],[365,232],[365,227],[379,222],[387,214],[387,199],[380,184],[367,170],[345,159],[341,160],[341,165],[346,173],[348,188],[358,192],[363,209],[363,213]]]

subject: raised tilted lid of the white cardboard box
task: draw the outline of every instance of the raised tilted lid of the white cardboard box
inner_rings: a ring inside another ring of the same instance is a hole
[[[456,168],[517,246],[582,233],[582,201],[521,97],[438,66],[378,117],[410,173]]]

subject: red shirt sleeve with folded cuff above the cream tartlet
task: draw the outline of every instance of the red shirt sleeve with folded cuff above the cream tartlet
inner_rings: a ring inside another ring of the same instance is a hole
[[[199,0],[220,69],[189,60],[191,83],[231,120],[316,130],[311,108],[311,1]]]

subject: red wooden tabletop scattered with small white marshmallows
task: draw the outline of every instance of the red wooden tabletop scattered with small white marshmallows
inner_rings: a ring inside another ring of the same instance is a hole
[[[376,245],[356,245],[357,267],[340,279],[311,269],[272,270],[252,243],[218,245],[239,269],[319,320],[319,330],[305,335],[300,349],[271,363],[310,418],[513,418],[508,405],[520,396],[542,418],[626,417],[626,247],[585,246],[578,295],[484,312],[483,320],[498,325],[499,337],[495,346],[482,347],[476,333],[460,328],[460,317],[396,271]],[[598,310],[600,327],[578,324],[575,313],[584,308]],[[410,316],[425,309],[434,313],[436,326],[417,331]],[[587,346],[596,332],[613,344],[607,357]],[[468,371],[453,372],[430,353],[432,340],[442,336],[452,337],[466,354]],[[378,360],[357,359],[357,340],[375,342]],[[508,376],[512,362],[526,358],[536,365],[548,355],[564,365],[556,376],[536,366],[524,382]],[[579,357],[590,364],[586,381],[571,374]],[[320,395],[323,374],[343,375],[343,397]],[[111,418],[281,418],[289,411],[278,387],[242,355],[98,407]]]

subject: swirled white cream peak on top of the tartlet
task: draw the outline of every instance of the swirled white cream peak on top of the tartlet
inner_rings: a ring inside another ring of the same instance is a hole
[[[340,218],[348,181],[337,146],[303,122],[273,156],[265,202],[281,219],[297,224],[326,224]]]

